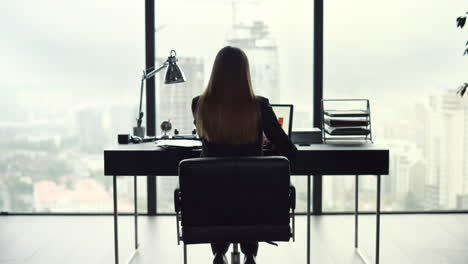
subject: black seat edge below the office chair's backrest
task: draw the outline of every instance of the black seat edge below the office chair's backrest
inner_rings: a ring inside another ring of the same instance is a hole
[[[256,226],[183,226],[182,240],[186,244],[247,241],[289,241],[289,225]]]

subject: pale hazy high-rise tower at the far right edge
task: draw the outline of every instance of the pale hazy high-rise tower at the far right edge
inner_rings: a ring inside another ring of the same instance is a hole
[[[464,192],[465,163],[468,159],[465,105],[454,90],[444,90],[429,98],[429,167],[426,182],[432,190],[434,187],[438,189],[438,195],[431,197],[438,197],[441,209],[455,208],[457,195]],[[431,201],[426,203],[433,204]]]

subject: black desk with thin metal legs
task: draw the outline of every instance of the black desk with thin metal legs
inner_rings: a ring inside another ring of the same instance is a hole
[[[376,175],[376,247],[375,263],[380,257],[380,185],[381,175],[388,175],[389,150],[371,143],[363,144],[314,144],[298,146],[296,160],[291,163],[291,174],[307,176],[307,264],[310,263],[310,198],[311,175],[355,175],[355,248],[364,262],[368,262],[358,248],[358,188],[359,175]],[[271,154],[266,151],[265,155]],[[117,176],[131,175],[178,175],[179,162],[187,158],[197,158],[200,150],[166,151],[154,143],[117,145],[104,150],[104,174],[113,176],[114,199],[114,246],[115,263],[119,263],[118,224],[117,224]],[[136,204],[137,181],[134,176],[135,196],[135,250],[138,249],[138,212]],[[134,252],[135,253],[135,252]],[[129,261],[131,261],[132,256]]]

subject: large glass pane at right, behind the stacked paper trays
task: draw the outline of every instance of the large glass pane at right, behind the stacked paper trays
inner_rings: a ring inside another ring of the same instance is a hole
[[[390,149],[386,211],[467,209],[466,1],[325,3],[325,98],[370,99],[375,144]],[[361,178],[375,208],[375,177]],[[354,177],[325,177],[324,210],[354,208]]]

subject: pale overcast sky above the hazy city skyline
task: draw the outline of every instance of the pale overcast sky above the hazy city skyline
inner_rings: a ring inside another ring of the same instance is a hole
[[[250,3],[239,5],[238,19],[265,21],[278,44],[282,100],[310,109],[313,1],[239,2]],[[0,5],[0,89],[6,98],[24,105],[41,96],[57,107],[103,104],[103,98],[104,104],[136,102],[144,1]],[[176,49],[180,56],[201,57],[209,74],[231,26],[230,1],[164,0],[156,6],[157,26],[166,25],[156,36],[158,56]],[[325,96],[392,98],[468,81],[468,56],[461,56],[468,29],[455,26],[466,11],[466,0],[325,0]]]

